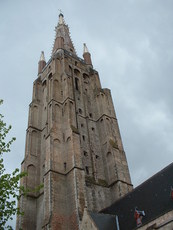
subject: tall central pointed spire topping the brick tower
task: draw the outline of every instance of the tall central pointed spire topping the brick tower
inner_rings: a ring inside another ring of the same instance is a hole
[[[76,51],[70,37],[69,27],[65,23],[64,15],[62,13],[59,14],[59,21],[58,25],[55,27],[55,31],[56,36],[52,54],[54,54],[58,49],[65,49],[76,55]]]

